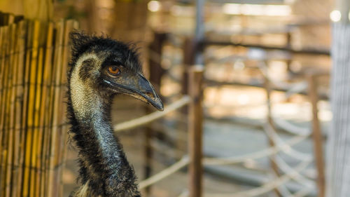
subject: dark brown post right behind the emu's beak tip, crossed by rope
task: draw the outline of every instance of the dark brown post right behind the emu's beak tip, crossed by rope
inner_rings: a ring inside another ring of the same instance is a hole
[[[162,64],[161,64],[161,61],[162,61],[161,57],[162,57],[162,48],[163,48],[165,39],[167,39],[167,34],[154,32],[154,40],[149,46],[150,81],[158,93],[160,93],[160,85],[161,85],[162,75],[164,73],[164,70],[162,69]],[[162,95],[160,95],[160,97],[162,98]],[[151,109],[147,106],[146,111],[151,112]],[[152,137],[153,137],[153,130],[151,128],[151,125],[149,125],[146,128],[145,142],[144,142],[144,147],[145,147],[144,178],[145,179],[147,179],[148,177],[151,177],[151,173],[152,173],[152,158],[153,158],[153,149],[151,146]],[[151,186],[146,187],[146,195],[148,195],[149,193],[151,193]]]

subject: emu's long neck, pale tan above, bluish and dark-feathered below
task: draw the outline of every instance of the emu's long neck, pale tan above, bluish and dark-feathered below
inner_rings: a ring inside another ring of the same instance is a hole
[[[68,111],[79,151],[79,178],[88,188],[86,196],[139,196],[134,170],[113,135],[111,96],[85,86],[75,73],[71,75]]]

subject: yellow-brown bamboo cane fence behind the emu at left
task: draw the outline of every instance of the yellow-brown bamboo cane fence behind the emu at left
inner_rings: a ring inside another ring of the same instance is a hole
[[[0,196],[62,196],[74,20],[0,13]]]

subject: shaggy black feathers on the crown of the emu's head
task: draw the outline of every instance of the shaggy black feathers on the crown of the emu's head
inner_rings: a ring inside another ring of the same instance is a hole
[[[71,40],[71,62],[70,71],[76,61],[84,53],[95,53],[98,55],[115,55],[123,62],[123,66],[134,72],[142,72],[139,62],[139,53],[134,43],[123,43],[109,36],[88,35],[83,31],[75,30],[69,34]]]

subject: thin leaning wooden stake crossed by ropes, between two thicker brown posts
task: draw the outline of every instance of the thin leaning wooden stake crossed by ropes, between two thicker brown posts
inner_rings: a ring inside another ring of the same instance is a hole
[[[276,130],[276,127],[274,125],[274,121],[272,120],[272,111],[271,111],[271,90],[272,90],[272,88],[271,88],[271,84],[269,83],[269,79],[267,79],[266,77],[265,77],[264,86],[265,86],[265,90],[266,90],[266,100],[267,100],[267,123],[269,124],[269,126],[271,126],[271,128],[273,130]],[[269,136],[267,136],[267,137],[269,139],[269,146],[276,147],[276,144],[274,144],[274,141]],[[280,176],[279,166],[276,163],[276,159],[274,157],[274,154],[269,157],[269,162],[271,163],[271,168],[272,168],[274,174],[277,177],[279,177]],[[282,196],[278,189],[275,188],[274,191],[275,191],[277,196]]]

